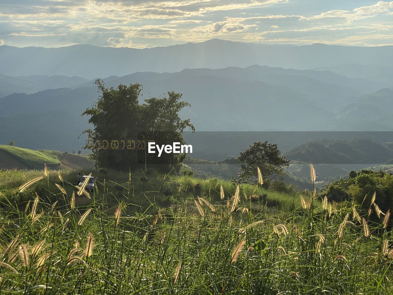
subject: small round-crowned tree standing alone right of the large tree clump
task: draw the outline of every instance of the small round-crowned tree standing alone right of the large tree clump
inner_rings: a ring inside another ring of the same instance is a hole
[[[277,175],[285,174],[284,169],[289,166],[289,160],[281,155],[277,144],[270,144],[267,140],[254,142],[236,160],[241,163],[239,179],[247,182],[251,182],[253,177],[257,179],[259,167],[266,186]]]

